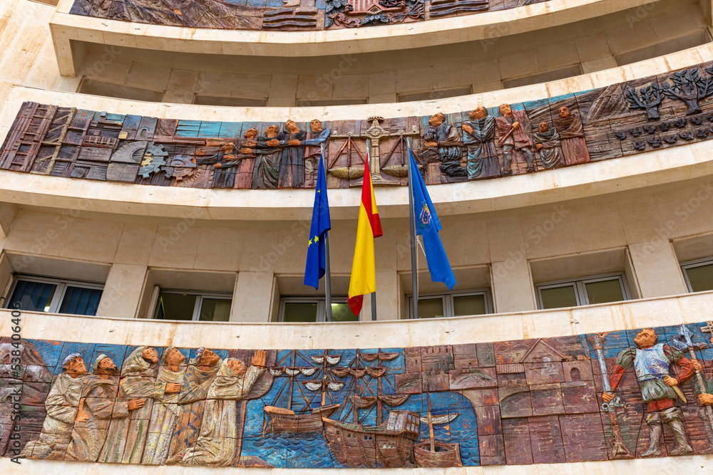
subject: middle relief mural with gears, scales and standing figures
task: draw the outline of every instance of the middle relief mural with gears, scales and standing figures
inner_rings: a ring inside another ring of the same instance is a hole
[[[210,122],[24,103],[0,169],[160,186],[405,186],[406,141],[426,184],[466,182],[627,157],[713,138],[713,63],[557,98],[426,117]]]

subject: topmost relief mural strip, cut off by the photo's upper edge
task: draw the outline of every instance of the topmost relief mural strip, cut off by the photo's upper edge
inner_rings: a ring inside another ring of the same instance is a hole
[[[71,14],[190,28],[324,30],[513,9],[547,0],[75,0]]]

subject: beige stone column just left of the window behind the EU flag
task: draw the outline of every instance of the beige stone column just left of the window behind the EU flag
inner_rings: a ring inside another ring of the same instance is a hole
[[[231,322],[268,322],[272,308],[270,272],[240,271],[232,296]]]

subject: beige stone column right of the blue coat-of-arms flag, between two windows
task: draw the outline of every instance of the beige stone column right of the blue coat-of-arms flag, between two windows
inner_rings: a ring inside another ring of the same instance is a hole
[[[496,313],[523,312],[537,308],[527,261],[493,262],[492,269]]]

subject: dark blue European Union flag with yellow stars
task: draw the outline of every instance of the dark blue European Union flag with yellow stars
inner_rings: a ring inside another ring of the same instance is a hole
[[[327,178],[324,175],[324,157],[319,156],[317,189],[314,192],[312,226],[309,229],[309,247],[307,264],[304,266],[304,285],[319,289],[319,279],[324,277],[324,264],[327,252],[324,247],[324,234],[332,229],[329,219],[329,199],[327,199]]]

